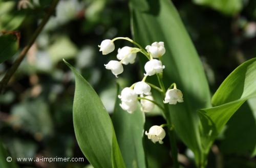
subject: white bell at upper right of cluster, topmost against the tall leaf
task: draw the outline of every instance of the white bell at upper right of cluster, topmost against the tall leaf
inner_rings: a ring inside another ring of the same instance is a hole
[[[162,41],[154,42],[151,45],[147,45],[146,50],[153,58],[160,58],[165,53],[164,43]]]

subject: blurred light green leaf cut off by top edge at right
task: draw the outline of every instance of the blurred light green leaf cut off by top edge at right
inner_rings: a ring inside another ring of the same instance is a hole
[[[211,7],[226,15],[234,15],[243,8],[244,0],[193,0],[195,4]]]

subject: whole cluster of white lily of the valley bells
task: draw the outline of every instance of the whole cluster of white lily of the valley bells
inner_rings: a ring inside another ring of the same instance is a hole
[[[128,113],[133,113],[137,109],[138,100],[140,100],[141,110],[145,113],[148,113],[154,109],[155,105],[161,107],[157,102],[154,101],[154,98],[151,94],[151,87],[157,89],[158,91],[164,93],[165,89],[161,89],[152,85],[151,83],[147,83],[145,80],[147,76],[158,75],[162,76],[163,69],[165,68],[162,65],[161,57],[165,53],[164,42],[154,42],[151,45],[147,45],[145,49],[143,49],[138,43],[134,42],[132,39],[118,37],[113,40],[103,40],[99,45],[102,54],[108,54],[115,50],[114,41],[118,39],[123,39],[132,42],[138,47],[129,47],[124,46],[118,49],[118,53],[116,55],[116,60],[111,60],[108,64],[105,64],[105,68],[111,70],[111,72],[118,77],[119,74],[123,72],[123,65],[133,64],[136,60],[137,52],[143,53],[148,61],[144,65],[144,77],[141,81],[134,83],[131,87],[126,87],[121,91],[121,94],[118,95],[118,98],[121,100],[120,106],[123,110]],[[172,89],[172,87],[174,87]],[[180,90],[176,88],[176,84],[173,83],[166,93],[164,94],[165,98],[163,103],[169,104],[177,104],[177,102],[183,102],[183,95]],[[163,109],[163,107],[161,107]],[[162,140],[165,137],[165,131],[162,126],[152,126],[150,130],[145,132],[147,137],[152,140],[153,143],[159,142],[162,144]]]

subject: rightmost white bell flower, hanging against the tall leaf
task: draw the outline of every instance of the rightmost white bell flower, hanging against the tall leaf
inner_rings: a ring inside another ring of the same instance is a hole
[[[183,95],[179,89],[168,89],[165,93],[164,103],[177,104],[183,102]]]

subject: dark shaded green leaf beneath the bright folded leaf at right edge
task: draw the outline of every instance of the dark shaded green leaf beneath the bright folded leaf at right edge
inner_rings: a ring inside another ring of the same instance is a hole
[[[224,139],[220,142],[222,153],[255,156],[255,107],[256,98],[247,100],[228,121],[225,127]]]

